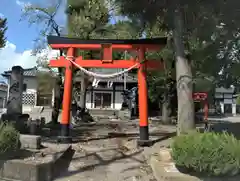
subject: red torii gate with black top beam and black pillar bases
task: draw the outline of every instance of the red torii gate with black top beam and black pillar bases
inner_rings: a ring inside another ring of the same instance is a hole
[[[48,36],[48,44],[53,49],[66,49],[67,58],[61,56],[59,59],[50,60],[51,67],[65,67],[64,95],[61,120],[61,136],[63,142],[70,142],[69,135],[70,108],[72,99],[72,72],[75,65],[85,68],[130,68],[136,63],[138,65],[138,94],[139,94],[139,126],[140,139],[138,145],[148,146],[152,142],[149,140],[148,130],[148,90],[146,82],[146,68],[163,68],[160,61],[145,60],[146,51],[159,51],[167,43],[167,38],[138,39],[138,40],[81,40],[76,38]],[[102,60],[83,60],[82,56],[75,57],[75,50],[102,50]],[[129,60],[113,60],[113,50],[135,51],[137,58]],[[74,64],[73,64],[74,62]]]

